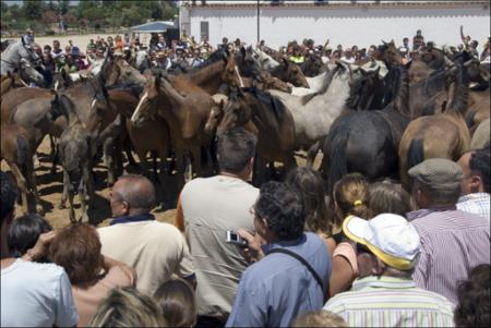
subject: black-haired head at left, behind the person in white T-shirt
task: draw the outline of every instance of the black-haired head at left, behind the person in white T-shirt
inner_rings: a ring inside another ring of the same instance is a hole
[[[13,220],[9,230],[9,252],[13,257],[22,257],[34,247],[41,233],[52,230],[51,224],[37,214],[29,214]]]

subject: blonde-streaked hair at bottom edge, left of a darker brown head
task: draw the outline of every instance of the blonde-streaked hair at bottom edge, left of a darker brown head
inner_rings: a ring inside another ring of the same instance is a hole
[[[161,309],[132,287],[115,288],[97,306],[88,327],[167,327]]]

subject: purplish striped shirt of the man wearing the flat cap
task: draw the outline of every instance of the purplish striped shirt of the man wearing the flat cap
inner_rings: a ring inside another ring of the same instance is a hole
[[[458,303],[457,286],[479,264],[490,263],[490,222],[458,209],[420,209],[408,214],[421,239],[416,284]]]

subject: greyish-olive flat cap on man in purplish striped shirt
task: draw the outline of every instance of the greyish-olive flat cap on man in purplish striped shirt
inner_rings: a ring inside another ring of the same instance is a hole
[[[460,166],[445,158],[427,159],[409,169],[408,173],[433,190],[456,189],[463,179]]]

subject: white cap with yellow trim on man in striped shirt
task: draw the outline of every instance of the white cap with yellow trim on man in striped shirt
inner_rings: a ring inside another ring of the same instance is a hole
[[[418,263],[419,234],[402,216],[381,214],[371,220],[349,216],[343,222],[343,232],[393,268],[405,271]]]

